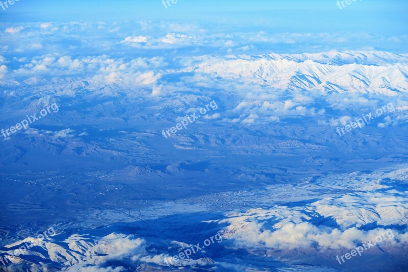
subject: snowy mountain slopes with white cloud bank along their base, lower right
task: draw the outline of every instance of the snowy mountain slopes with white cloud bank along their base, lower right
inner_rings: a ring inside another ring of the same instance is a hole
[[[408,218],[406,192],[382,191],[353,193],[327,198],[303,207],[251,209],[244,213],[231,213],[227,237],[233,238],[242,248],[293,249],[352,249],[362,241],[374,241],[387,230],[388,239],[381,245],[406,246],[408,233],[392,229],[393,225],[406,225]],[[313,218],[333,218],[337,225],[315,226]],[[377,228],[365,230],[364,226],[376,223]]]

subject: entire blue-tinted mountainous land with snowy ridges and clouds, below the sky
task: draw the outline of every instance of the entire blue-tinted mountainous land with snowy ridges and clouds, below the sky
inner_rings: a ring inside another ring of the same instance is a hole
[[[73,62],[83,75],[61,71],[64,59],[21,60],[2,82],[4,128],[59,106],[1,141],[8,225],[0,256],[37,241],[5,269],[386,269],[379,257],[406,264],[406,55],[81,56]],[[377,109],[387,111],[336,132]],[[172,133],[187,117],[194,121]],[[8,193],[16,187],[21,193]],[[50,219],[38,222],[44,212]],[[51,226],[55,235],[36,240]],[[339,268],[337,255],[387,231],[393,238]],[[222,242],[174,261],[217,233]]]

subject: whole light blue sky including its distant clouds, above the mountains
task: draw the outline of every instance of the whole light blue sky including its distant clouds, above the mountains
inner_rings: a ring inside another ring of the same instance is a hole
[[[340,9],[336,0],[178,0],[169,1],[167,8],[162,0],[19,0],[5,10],[0,8],[0,43],[9,48],[3,53],[0,47],[0,53],[10,57],[7,54],[14,51],[18,57],[31,42],[44,45],[34,46],[42,50],[34,54],[80,45],[82,54],[128,54],[122,46],[126,37],[151,41],[166,35],[187,35],[191,42],[179,37],[185,40],[183,46],[200,47],[201,54],[223,54],[228,43],[251,46],[253,54],[408,52],[408,1],[347,1],[350,5],[345,3]],[[53,27],[41,28],[41,23]],[[138,46],[136,54],[171,53],[174,48],[165,45],[147,42]],[[127,48],[135,54],[135,48]]]

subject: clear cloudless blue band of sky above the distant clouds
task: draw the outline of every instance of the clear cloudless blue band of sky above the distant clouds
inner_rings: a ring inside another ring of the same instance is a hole
[[[335,0],[243,1],[179,0],[165,8],[161,0],[20,0],[2,21],[177,20],[222,24],[276,32],[375,32],[406,34],[408,2],[362,0],[342,10]]]

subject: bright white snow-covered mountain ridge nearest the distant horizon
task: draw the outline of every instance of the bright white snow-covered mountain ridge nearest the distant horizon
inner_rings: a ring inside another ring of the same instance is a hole
[[[196,68],[191,67],[188,70],[215,74],[225,79],[268,85],[276,89],[376,92],[386,95],[408,91],[406,56],[372,53],[369,58],[363,53],[354,54],[340,52],[331,52],[327,55],[270,54],[262,58],[212,59],[205,60]],[[381,65],[366,64],[362,61],[364,59],[362,56],[373,61],[381,59]],[[334,61],[328,61],[333,58]]]

